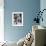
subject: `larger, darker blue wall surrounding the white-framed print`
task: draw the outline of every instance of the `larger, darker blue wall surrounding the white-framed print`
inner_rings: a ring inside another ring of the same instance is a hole
[[[32,20],[35,12],[40,9],[40,0],[5,0],[4,1],[4,38],[8,41],[18,41],[32,28]],[[24,13],[24,26],[12,26],[12,12]]]

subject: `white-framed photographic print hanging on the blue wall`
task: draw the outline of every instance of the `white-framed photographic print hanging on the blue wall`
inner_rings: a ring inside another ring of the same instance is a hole
[[[23,12],[12,12],[12,26],[23,26]]]

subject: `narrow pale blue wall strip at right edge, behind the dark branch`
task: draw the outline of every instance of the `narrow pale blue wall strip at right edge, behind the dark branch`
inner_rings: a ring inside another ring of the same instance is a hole
[[[46,9],[46,0],[41,0],[40,1],[40,10],[42,11],[43,9]],[[40,25],[45,26],[46,27],[46,11],[43,12],[43,22],[40,22]]]

